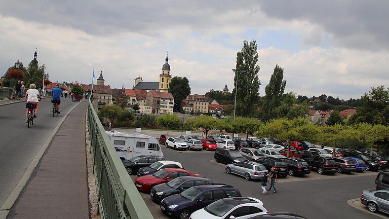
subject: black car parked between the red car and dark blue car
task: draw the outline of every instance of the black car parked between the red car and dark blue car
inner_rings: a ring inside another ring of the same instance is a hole
[[[180,176],[165,184],[154,186],[150,191],[150,198],[157,203],[160,203],[162,199],[179,194],[192,186],[211,185],[213,182],[211,179],[198,177],[198,176]]]

